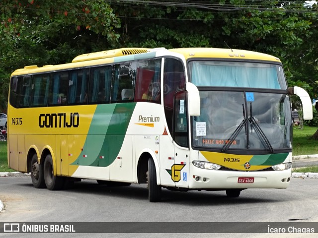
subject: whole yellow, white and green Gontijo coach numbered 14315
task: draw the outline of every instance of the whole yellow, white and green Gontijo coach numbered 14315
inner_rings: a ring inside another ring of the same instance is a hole
[[[289,95],[278,58],[213,48],[125,48],[71,63],[25,66],[10,78],[8,165],[34,187],[67,181],[225,190],[287,188]]]

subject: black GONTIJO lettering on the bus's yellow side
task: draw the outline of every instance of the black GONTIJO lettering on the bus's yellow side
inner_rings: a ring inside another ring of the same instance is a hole
[[[40,114],[39,126],[41,128],[79,127],[79,113]]]

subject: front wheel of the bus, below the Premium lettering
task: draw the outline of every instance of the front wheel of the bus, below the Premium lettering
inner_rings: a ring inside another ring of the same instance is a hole
[[[147,179],[149,201],[159,202],[161,200],[161,186],[157,184],[156,166],[152,158],[148,159]]]

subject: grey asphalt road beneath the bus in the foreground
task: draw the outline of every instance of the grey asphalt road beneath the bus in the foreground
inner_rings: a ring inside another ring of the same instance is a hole
[[[29,177],[0,178],[4,210],[0,222],[318,222],[318,179],[292,179],[288,189],[247,189],[239,198],[225,191],[163,190],[159,203],[148,201],[146,185],[107,187],[83,180],[68,190],[36,189]],[[186,224],[185,224],[186,226]],[[211,234],[73,234],[74,237],[211,237]],[[287,234],[280,234],[284,237]],[[311,237],[309,234],[286,237]],[[315,234],[314,234],[315,235]],[[43,237],[14,234],[14,237]],[[72,237],[72,234],[68,234]],[[217,234],[214,237],[241,237]],[[244,237],[267,237],[244,234]],[[7,234],[0,234],[7,237]],[[50,234],[65,237],[65,234]],[[313,236],[315,237],[315,236]]]

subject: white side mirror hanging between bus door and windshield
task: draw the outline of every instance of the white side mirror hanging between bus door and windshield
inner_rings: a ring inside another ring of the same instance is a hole
[[[200,116],[200,95],[198,88],[193,83],[185,84],[188,93],[188,110],[190,116]]]

